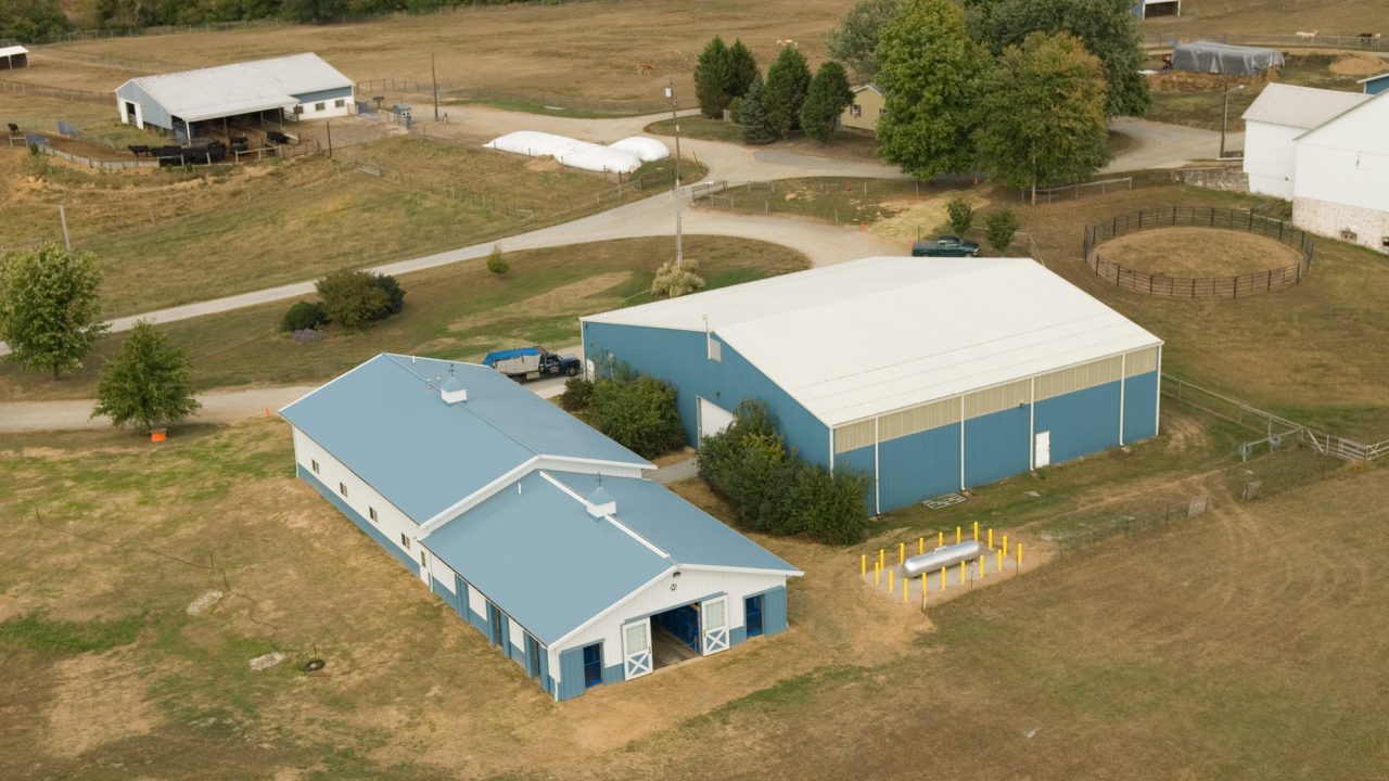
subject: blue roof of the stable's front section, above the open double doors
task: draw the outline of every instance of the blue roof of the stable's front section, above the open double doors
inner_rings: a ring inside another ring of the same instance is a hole
[[[614,517],[669,554],[663,557],[590,516],[583,502],[544,475],[578,496],[599,491],[596,475],[531,472],[438,528],[424,545],[546,645],[682,564],[799,574],[651,481],[601,478],[601,489],[617,502]]]

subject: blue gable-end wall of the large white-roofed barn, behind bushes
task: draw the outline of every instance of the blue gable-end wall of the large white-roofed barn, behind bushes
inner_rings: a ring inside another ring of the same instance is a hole
[[[718,335],[714,335],[715,340]],[[708,360],[701,331],[643,328],[608,322],[583,324],[585,354],[601,367],[600,356],[611,354],[640,374],[669,382],[679,395],[685,436],[694,445],[699,436],[699,397],[733,410],[743,399],[761,399],[776,418],[786,445],[801,457],[829,466],[829,429],[776,384],[724,343],[720,361]]]

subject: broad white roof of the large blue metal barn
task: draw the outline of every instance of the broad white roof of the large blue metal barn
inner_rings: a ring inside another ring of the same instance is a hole
[[[831,427],[1161,343],[1028,258],[868,257],[583,320],[706,318]]]

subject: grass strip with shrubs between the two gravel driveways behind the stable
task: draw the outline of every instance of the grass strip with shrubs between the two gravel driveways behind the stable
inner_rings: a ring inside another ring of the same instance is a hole
[[[806,264],[779,245],[720,236],[686,236],[685,253],[711,288]],[[482,260],[406,274],[403,313],[364,331],[329,328],[326,339],[307,345],[278,331],[290,302],[158,329],[186,350],[199,389],[322,382],[378,352],[476,360],[504,346],[576,345],[579,315],[644,303],[656,267],[672,254],[672,239],[625,239],[506,253],[511,271],[503,278]],[[3,363],[0,399],[92,397],[101,367],[124,340],[122,334],[101,340],[81,370],[57,382]]]

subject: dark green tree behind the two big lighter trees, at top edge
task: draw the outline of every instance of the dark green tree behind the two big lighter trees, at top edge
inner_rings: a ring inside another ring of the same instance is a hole
[[[1142,117],[1151,99],[1133,0],[965,0],[974,38],[1000,54],[1035,32],[1068,33],[1100,58],[1107,117]]]

